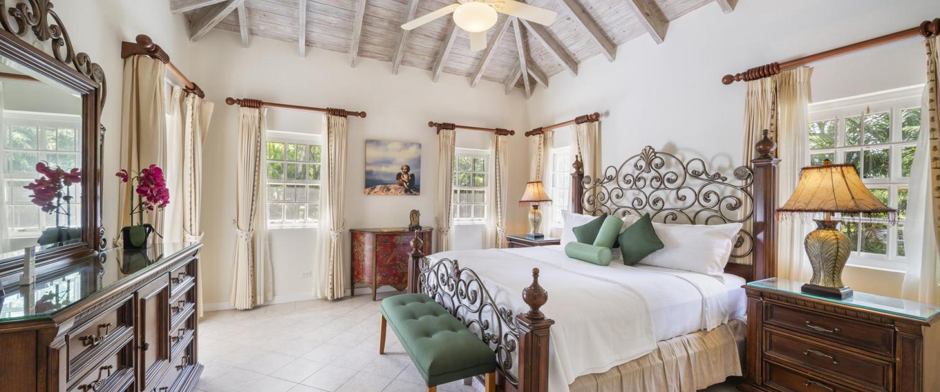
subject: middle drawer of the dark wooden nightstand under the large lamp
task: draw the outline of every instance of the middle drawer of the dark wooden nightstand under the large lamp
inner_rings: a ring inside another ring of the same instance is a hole
[[[890,362],[774,330],[764,331],[764,341],[764,354],[769,357],[795,361],[813,369],[814,373],[828,370],[833,377],[844,378],[872,390],[893,389],[894,366]]]

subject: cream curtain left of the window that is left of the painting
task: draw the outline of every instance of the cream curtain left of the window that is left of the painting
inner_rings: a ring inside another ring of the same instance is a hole
[[[271,264],[267,257],[267,209],[260,186],[264,167],[262,145],[266,126],[264,109],[240,107],[238,164],[235,166],[235,251],[229,302],[250,309],[271,299]]]

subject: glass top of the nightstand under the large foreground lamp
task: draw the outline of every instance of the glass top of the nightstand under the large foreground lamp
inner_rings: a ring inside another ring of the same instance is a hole
[[[801,291],[800,288],[803,287],[804,283],[806,282],[772,277],[770,279],[750,282],[747,284],[747,286],[758,289],[787,292],[835,304],[861,307],[920,321],[929,321],[932,318],[940,315],[940,306],[924,304],[917,301],[903,300],[901,298],[885,297],[883,295],[870,294],[868,292],[854,291],[853,296],[844,300],[840,300],[838,298],[827,298]]]

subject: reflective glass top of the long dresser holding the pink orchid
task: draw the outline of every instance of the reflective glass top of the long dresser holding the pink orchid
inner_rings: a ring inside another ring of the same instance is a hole
[[[0,277],[0,322],[51,317],[127,278],[145,274],[195,243],[153,243],[145,250],[112,248],[67,265],[37,267],[36,283],[21,273]],[[58,264],[58,263],[56,263]]]

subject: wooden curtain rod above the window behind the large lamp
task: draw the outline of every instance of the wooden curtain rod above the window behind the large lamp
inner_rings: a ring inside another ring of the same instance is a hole
[[[760,67],[754,67],[744,72],[735,73],[733,75],[725,75],[721,78],[721,83],[725,85],[730,85],[734,82],[740,81],[752,81],[765,78],[768,76],[776,75],[780,71],[793,70],[802,66],[805,66],[810,63],[814,63],[829,57],[836,57],[839,55],[846,55],[853,52],[857,52],[864,49],[873,48],[875,46],[884,45],[886,43],[895,42],[901,39],[909,39],[912,37],[921,36],[924,38],[930,38],[932,36],[940,35],[940,18],[934,19],[932,21],[924,21],[917,27],[912,27],[906,30],[901,30],[896,33],[891,33],[886,36],[881,36],[873,39],[863,40],[861,42],[855,42],[851,45],[845,45],[838,47],[836,49],[830,49],[825,52],[820,52],[815,55],[807,55],[800,57],[794,60],[790,60],[783,63],[770,63],[765,64]]]

